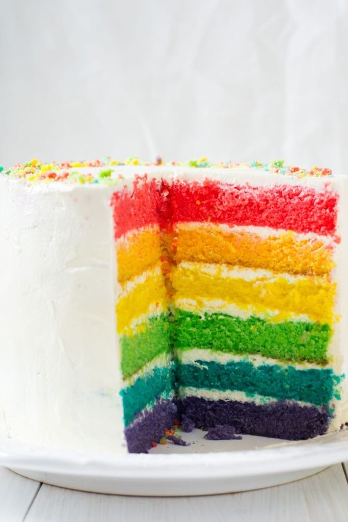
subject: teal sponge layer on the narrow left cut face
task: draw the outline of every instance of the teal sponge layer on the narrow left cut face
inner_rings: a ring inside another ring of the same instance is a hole
[[[153,406],[159,397],[167,399],[173,395],[175,385],[173,365],[155,367],[148,374],[138,377],[134,384],[121,391],[125,425],[128,426],[136,413],[146,406]]]

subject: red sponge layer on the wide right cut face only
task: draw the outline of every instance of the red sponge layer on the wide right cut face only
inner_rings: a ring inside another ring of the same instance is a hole
[[[301,185],[251,187],[178,181],[170,188],[172,223],[212,221],[237,226],[253,225],[334,234],[338,194],[325,187]]]

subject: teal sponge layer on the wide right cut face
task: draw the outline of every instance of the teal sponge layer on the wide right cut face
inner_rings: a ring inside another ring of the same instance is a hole
[[[197,360],[195,364],[178,366],[177,381],[178,386],[183,387],[239,390],[250,396],[257,394],[321,406],[329,404],[335,395],[340,377],[331,369],[297,370],[277,364],[254,366],[248,360],[226,364]]]

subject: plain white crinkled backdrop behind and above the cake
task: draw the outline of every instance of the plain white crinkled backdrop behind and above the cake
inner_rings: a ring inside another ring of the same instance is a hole
[[[348,172],[347,0],[0,0],[0,163]]]

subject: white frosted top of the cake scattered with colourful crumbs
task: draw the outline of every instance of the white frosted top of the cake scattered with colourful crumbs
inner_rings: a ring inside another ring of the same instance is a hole
[[[221,169],[223,171],[252,170],[269,172],[274,175],[292,176],[298,179],[303,177],[332,177],[331,169],[313,167],[305,170],[300,167],[285,164],[284,160],[261,163],[252,161],[250,163],[234,163],[232,161],[210,163],[207,158],[199,158],[186,162],[170,161],[164,162],[159,156],[151,162],[140,161],[136,156],[131,156],[125,161],[117,161],[110,156],[102,160],[94,161],[64,161],[44,163],[37,159],[32,159],[27,163],[16,163],[8,170],[0,167],[2,175],[11,178],[23,179],[28,182],[65,182],[69,184],[96,184],[104,185],[118,184],[123,179],[124,167],[143,168],[169,168],[169,169]],[[117,172],[117,168],[121,168]],[[123,172],[122,172],[123,171]]]

